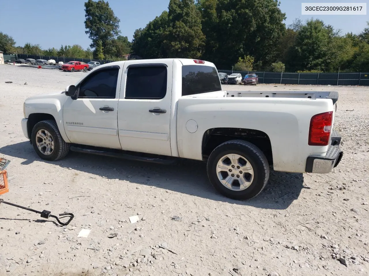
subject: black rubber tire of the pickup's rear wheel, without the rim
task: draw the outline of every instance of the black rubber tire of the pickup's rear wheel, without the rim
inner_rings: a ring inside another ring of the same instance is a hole
[[[223,156],[232,153],[247,159],[254,170],[254,178],[245,190],[231,190],[218,179],[216,171],[218,161]],[[225,197],[245,200],[256,197],[264,189],[269,179],[269,164],[264,153],[254,144],[243,140],[231,140],[217,146],[210,154],[207,162],[207,173],[210,183]]]

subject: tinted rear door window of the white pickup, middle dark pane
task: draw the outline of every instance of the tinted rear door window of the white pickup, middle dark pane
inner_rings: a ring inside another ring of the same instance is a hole
[[[165,66],[128,68],[125,99],[163,99],[166,84]]]

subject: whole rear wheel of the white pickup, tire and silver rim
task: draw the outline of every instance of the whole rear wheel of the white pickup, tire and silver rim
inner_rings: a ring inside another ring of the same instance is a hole
[[[225,197],[245,200],[256,197],[269,179],[269,164],[254,144],[231,140],[217,146],[207,162],[210,183]]]

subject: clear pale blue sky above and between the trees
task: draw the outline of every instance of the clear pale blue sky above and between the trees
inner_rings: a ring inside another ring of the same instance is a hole
[[[91,40],[85,34],[84,0],[1,0],[0,31],[12,36],[17,46],[29,42],[42,49],[79,44],[89,47]],[[114,14],[120,19],[121,35],[132,40],[134,31],[168,10],[169,0],[110,0]],[[360,33],[369,21],[367,15],[301,15],[301,3],[367,3],[369,0],[280,0],[280,9],[286,13],[286,25],[295,18],[306,21],[319,18],[334,29]]]

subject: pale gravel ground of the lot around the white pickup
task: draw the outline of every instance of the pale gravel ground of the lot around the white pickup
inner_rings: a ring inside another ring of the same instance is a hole
[[[219,195],[200,162],[38,158],[21,130],[23,101],[84,74],[0,66],[0,155],[11,160],[1,198],[75,215],[59,227],[1,204],[0,275],[369,275],[368,87],[225,85],[339,92],[339,166],[321,175],[272,172],[265,190],[243,202]],[[77,237],[81,229],[91,230],[87,238]]]

